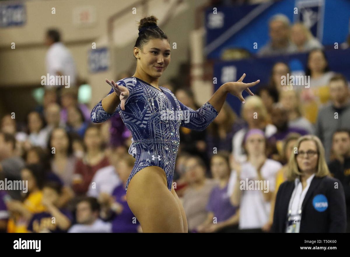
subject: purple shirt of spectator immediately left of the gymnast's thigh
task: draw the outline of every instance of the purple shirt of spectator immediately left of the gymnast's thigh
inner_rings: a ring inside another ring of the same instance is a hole
[[[125,185],[122,183],[117,186],[113,190],[112,196],[117,203],[123,205],[123,211],[112,218],[112,233],[137,233],[137,227],[140,223],[126,202]]]

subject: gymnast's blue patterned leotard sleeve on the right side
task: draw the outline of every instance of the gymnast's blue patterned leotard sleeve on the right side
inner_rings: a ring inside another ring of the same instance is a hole
[[[205,103],[198,110],[193,110],[183,103],[180,103],[181,110],[184,112],[184,119],[181,121],[181,126],[191,130],[202,131],[216,118],[218,112],[209,103]]]

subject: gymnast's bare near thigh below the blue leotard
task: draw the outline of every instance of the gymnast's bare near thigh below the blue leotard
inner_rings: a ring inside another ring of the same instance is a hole
[[[149,166],[138,171],[128,185],[126,199],[143,232],[184,232],[181,209],[162,168]]]

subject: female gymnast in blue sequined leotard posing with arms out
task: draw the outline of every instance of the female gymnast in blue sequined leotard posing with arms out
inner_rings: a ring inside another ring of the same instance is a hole
[[[179,128],[204,130],[220,112],[228,93],[244,104],[243,90],[253,95],[249,87],[260,80],[243,83],[243,74],[237,82],[223,84],[198,110],[188,108],[169,89],[158,86],[170,63],[170,42],[157,20],[154,16],[140,20],[135,74],[117,82],[106,79],[112,89],[91,111],[91,121],[104,122],[119,112],[132,133],[129,153],[136,160],[126,183],[126,199],[142,231],[188,232],[184,209],[172,185]],[[175,112],[180,115],[174,117]],[[189,118],[184,119],[185,115]]]

